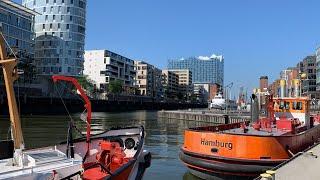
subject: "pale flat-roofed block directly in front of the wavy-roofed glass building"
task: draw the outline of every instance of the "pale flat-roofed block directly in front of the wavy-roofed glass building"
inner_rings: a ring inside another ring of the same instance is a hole
[[[189,69],[170,69],[169,71],[178,75],[179,93],[184,99],[190,99],[193,94],[192,72]]]

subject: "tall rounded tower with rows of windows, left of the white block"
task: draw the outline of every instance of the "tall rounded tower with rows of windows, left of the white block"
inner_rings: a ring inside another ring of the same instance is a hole
[[[82,75],[86,0],[23,0],[35,16],[35,60],[40,75]]]

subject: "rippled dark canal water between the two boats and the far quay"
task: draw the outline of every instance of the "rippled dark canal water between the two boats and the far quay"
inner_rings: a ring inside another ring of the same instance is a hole
[[[77,126],[84,130],[85,123],[79,120],[80,114],[73,115]],[[202,126],[205,123],[158,119],[155,111],[134,111],[123,113],[93,113],[92,129],[100,131],[115,126],[143,125],[146,129],[145,149],[152,153],[151,167],[144,179],[194,180],[178,158],[183,143],[183,131],[188,127]],[[64,116],[28,116],[22,118],[24,139],[27,148],[53,145],[66,140],[69,118]],[[8,134],[9,119],[0,119],[0,137]]]

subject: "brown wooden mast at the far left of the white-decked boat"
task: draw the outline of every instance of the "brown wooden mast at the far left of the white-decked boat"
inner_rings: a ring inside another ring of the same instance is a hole
[[[18,72],[16,68],[18,62],[14,58],[9,59],[7,57],[7,51],[4,42],[4,36],[2,32],[0,32],[0,64],[2,66],[3,78],[6,86],[14,148],[24,149],[21,121],[13,89],[13,82],[18,79]]]

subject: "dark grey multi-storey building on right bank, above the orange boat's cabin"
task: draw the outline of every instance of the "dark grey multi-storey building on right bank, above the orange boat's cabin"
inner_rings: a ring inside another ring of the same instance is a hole
[[[310,96],[310,98],[320,98],[320,93],[317,92],[317,66],[316,56],[311,55],[305,57],[301,62],[297,64],[297,68],[300,73],[306,74],[306,79],[302,79],[302,95]]]

